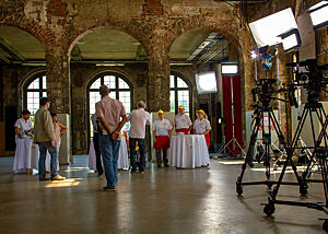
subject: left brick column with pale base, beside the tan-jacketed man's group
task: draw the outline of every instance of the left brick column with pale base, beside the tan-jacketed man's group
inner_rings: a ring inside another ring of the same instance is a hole
[[[73,163],[70,142],[70,114],[71,114],[71,82],[70,67],[67,50],[62,46],[54,46],[46,50],[47,61],[47,94],[51,101],[50,112],[57,114],[68,131],[61,138],[59,163],[62,165]]]

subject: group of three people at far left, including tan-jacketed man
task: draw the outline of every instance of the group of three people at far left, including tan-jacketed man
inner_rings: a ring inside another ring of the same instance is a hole
[[[35,113],[34,127],[30,120],[31,113],[25,109],[22,118],[19,118],[14,125],[15,139],[32,138],[39,148],[38,178],[39,180],[63,180],[63,176],[57,173],[57,161],[60,149],[60,137],[67,131],[67,127],[57,119],[57,114],[50,114],[50,100],[40,98],[40,108]],[[46,177],[46,156],[50,154],[50,178]]]

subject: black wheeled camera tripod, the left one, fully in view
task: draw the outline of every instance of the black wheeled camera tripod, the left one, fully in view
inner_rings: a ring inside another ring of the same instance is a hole
[[[286,142],[284,140],[284,137],[282,134],[282,131],[278,125],[276,115],[273,113],[272,107],[270,107],[269,103],[270,100],[273,97],[269,97],[269,98],[261,98],[262,101],[262,106],[260,105],[256,105],[256,109],[254,112],[255,114],[255,125],[251,131],[251,136],[250,136],[250,140],[249,140],[249,145],[248,145],[248,150],[247,150],[247,154],[246,154],[246,159],[245,162],[242,166],[242,173],[239,175],[239,177],[237,178],[236,182],[236,192],[238,194],[238,196],[241,196],[243,194],[243,187],[242,186],[247,186],[247,185],[267,185],[268,188],[271,188],[272,185],[277,184],[277,182],[271,180],[270,176],[271,176],[271,168],[270,168],[270,147],[271,147],[271,122],[273,124],[273,127],[277,131],[278,134],[278,139],[280,141],[280,143],[285,148],[286,147]],[[278,98],[276,98],[278,100]],[[267,126],[262,125],[262,122],[265,121],[265,115],[268,116],[267,121]],[[254,155],[254,149],[255,149],[255,143],[257,141],[257,134],[259,131],[259,128],[262,128],[262,142],[265,144],[265,155],[263,155],[263,160],[265,160],[265,167],[266,167],[266,177],[267,180],[262,180],[262,182],[243,182],[244,178],[244,174],[247,167],[247,164],[250,167],[254,167],[253,164],[253,155]],[[297,172],[296,172],[296,166],[292,163],[292,168],[294,171],[294,174],[297,178],[297,183],[283,183],[285,185],[300,185],[300,192],[304,191],[304,186],[303,186],[303,182],[301,179],[301,177],[298,176]]]

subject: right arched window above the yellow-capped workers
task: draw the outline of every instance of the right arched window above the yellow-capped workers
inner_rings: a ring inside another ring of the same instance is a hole
[[[172,72],[169,75],[169,94],[171,112],[178,113],[180,105],[185,106],[186,114],[192,112],[191,85],[177,72]]]

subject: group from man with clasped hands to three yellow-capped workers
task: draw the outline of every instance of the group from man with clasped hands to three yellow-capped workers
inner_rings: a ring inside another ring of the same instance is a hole
[[[96,103],[96,113],[92,118],[96,134],[93,139],[94,145],[99,145],[99,150],[96,151],[96,164],[98,175],[103,173],[101,155],[105,168],[105,176],[107,185],[104,190],[116,190],[117,185],[117,164],[119,156],[120,136],[121,130],[127,121],[130,121],[131,127],[129,130],[129,148],[130,148],[130,162],[131,173],[137,173],[137,159],[136,159],[136,145],[140,151],[139,172],[144,173],[145,169],[145,126],[150,125],[150,114],[145,112],[144,102],[139,102],[137,109],[133,109],[127,117],[122,103],[118,100],[109,97],[109,89],[106,85],[102,85],[99,94],[102,100]],[[167,149],[169,148],[169,141],[172,137],[173,126],[175,126],[176,132],[183,132],[188,134],[194,129],[194,133],[203,134],[207,145],[210,145],[211,125],[208,120],[206,113],[202,109],[197,110],[197,120],[194,124],[190,117],[185,114],[185,107],[179,106],[179,114],[174,119],[174,125],[164,117],[164,112],[160,109],[157,112],[159,119],[153,122],[153,148],[156,151],[157,166],[168,166]],[[97,124],[98,122],[98,124]],[[97,153],[98,152],[98,153]],[[163,161],[162,161],[163,152]]]

